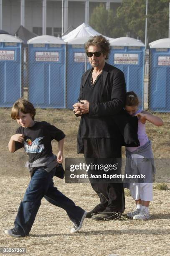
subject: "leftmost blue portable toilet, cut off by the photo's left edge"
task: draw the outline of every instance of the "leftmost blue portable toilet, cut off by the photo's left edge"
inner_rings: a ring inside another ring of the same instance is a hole
[[[12,107],[23,96],[22,40],[0,34],[0,107]]]

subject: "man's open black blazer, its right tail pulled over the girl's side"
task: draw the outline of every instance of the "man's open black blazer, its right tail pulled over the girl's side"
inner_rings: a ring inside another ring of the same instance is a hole
[[[80,95],[78,100],[86,100],[82,98],[82,92],[90,72],[91,69],[87,70],[81,78]],[[111,138],[115,139],[115,141],[121,146],[140,146],[137,138],[137,117],[132,117],[123,109],[126,98],[124,73],[120,69],[106,63],[103,68],[101,79],[102,102],[90,103],[89,117],[100,118],[104,116],[108,117],[109,120],[112,118],[115,123],[115,130],[110,134]],[[80,126],[77,137],[79,154],[84,153]]]

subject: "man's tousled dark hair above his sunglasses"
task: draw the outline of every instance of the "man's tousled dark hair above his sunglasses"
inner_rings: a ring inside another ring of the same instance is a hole
[[[97,36],[91,36],[89,38],[89,41],[87,41],[84,44],[84,49],[86,52],[88,52],[89,46],[100,46],[101,51],[103,54],[106,54],[106,58],[108,59],[108,54],[110,52],[110,44],[109,40],[107,40],[104,36],[102,35],[97,35]]]

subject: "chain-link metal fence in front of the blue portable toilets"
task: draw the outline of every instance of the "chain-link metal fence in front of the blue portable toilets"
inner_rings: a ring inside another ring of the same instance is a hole
[[[20,97],[36,108],[72,108],[77,102],[81,76],[90,68],[83,45],[30,44],[23,49],[18,43],[0,43],[0,48],[0,107],[11,107]],[[132,51],[127,54],[137,54]],[[126,65],[112,56],[108,63],[122,69],[127,90],[140,95],[144,109],[170,112],[170,49],[150,51],[145,66],[144,54]]]

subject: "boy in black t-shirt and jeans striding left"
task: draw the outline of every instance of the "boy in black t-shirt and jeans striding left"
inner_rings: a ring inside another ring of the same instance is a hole
[[[16,134],[11,136],[8,143],[10,152],[24,148],[29,161],[26,166],[32,176],[21,201],[18,214],[12,229],[5,230],[5,234],[13,237],[28,236],[41,205],[43,197],[53,205],[63,208],[74,223],[71,233],[80,230],[86,211],[63,195],[53,186],[53,175],[56,165],[63,161],[63,143],[65,134],[53,125],[46,122],[36,122],[36,110],[28,100],[18,100],[14,103],[11,117],[20,125]],[[53,155],[51,141],[58,141],[57,158]]]

